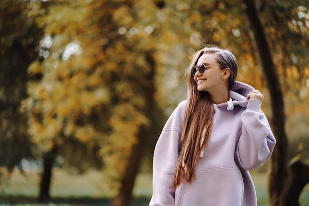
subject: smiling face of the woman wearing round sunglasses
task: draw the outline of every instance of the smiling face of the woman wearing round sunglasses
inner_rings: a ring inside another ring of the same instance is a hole
[[[197,84],[199,91],[216,91],[218,86],[225,86],[223,77],[223,70],[220,69],[221,65],[216,62],[216,55],[205,53],[197,61],[196,65],[204,64],[210,68],[206,68],[203,74],[198,71],[195,73],[194,81]]]

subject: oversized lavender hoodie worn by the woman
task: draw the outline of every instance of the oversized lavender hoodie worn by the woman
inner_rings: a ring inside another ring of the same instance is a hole
[[[248,84],[235,82],[229,90],[230,101],[214,104],[213,130],[195,165],[195,180],[174,190],[187,101],[178,105],[155,146],[150,206],[257,206],[249,170],[264,165],[276,140],[262,103],[246,100],[252,90]]]

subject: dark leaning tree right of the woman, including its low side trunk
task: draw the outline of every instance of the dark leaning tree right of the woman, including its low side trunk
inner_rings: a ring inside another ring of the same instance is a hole
[[[304,186],[309,183],[309,165],[304,165],[300,160],[291,164],[291,170],[287,172],[287,135],[285,133],[284,103],[280,82],[270,54],[269,43],[263,26],[258,17],[252,0],[243,0],[245,14],[248,18],[252,40],[254,42],[257,57],[261,61],[261,67],[267,79],[271,96],[272,126],[277,138],[277,145],[271,156],[270,166],[270,203],[272,206],[299,205],[298,199]],[[276,13],[274,13],[276,14]],[[280,26],[283,26],[280,24]],[[285,27],[286,29],[286,27]],[[287,42],[286,31],[280,28],[282,40]],[[301,35],[300,35],[301,37]],[[287,53],[286,53],[287,54]],[[289,174],[289,176],[287,176]]]

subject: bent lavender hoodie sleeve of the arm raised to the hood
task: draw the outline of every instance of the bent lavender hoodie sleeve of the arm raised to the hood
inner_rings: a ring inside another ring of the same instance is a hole
[[[242,134],[236,147],[235,161],[245,170],[264,165],[276,144],[261,105],[258,100],[249,100],[241,115]]]

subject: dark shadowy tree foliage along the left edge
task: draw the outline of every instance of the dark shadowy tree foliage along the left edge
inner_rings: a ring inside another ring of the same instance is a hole
[[[0,2],[0,166],[11,171],[23,158],[35,158],[25,115],[27,68],[36,59],[41,30],[23,18],[26,6],[18,0]]]

